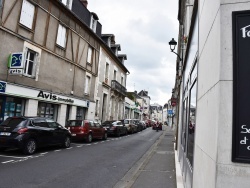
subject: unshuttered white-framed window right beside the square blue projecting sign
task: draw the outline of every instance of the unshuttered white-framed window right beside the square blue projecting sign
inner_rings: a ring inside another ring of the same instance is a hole
[[[26,58],[24,61],[24,72],[23,74],[25,76],[29,76],[29,77],[35,77],[36,74],[36,64],[37,64],[37,57],[38,57],[38,53],[27,48],[26,49]]]

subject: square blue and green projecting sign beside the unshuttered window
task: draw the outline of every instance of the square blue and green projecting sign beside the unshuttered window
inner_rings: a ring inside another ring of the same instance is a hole
[[[23,52],[16,52],[10,54],[8,61],[9,74],[12,75],[23,74],[23,64],[24,64],[23,56],[24,56]]]

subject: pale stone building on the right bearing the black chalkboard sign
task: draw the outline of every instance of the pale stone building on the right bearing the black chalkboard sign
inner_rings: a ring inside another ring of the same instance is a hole
[[[249,187],[249,1],[179,1],[177,151],[185,187]]]

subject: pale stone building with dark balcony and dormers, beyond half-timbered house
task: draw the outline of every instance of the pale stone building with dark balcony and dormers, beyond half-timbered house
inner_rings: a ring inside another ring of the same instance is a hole
[[[124,119],[126,80],[129,71],[124,66],[127,56],[118,54],[121,47],[115,43],[115,36],[103,34],[102,39],[105,43],[100,48],[95,119],[104,122]]]

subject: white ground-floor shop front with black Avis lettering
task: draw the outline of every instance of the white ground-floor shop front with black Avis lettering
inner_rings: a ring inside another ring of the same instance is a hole
[[[0,122],[13,116],[51,118],[61,125],[84,119],[89,101],[0,81]]]

